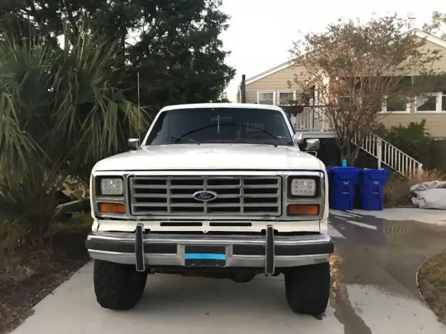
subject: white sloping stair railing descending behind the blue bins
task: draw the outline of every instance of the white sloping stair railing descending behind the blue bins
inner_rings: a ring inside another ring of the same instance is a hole
[[[358,145],[356,134],[352,142]],[[405,177],[415,177],[423,168],[420,161],[413,159],[376,134],[367,135],[360,143],[360,148],[377,159],[378,168],[381,168],[381,164],[385,164]]]

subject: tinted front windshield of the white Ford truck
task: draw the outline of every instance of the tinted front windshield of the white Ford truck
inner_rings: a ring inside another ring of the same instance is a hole
[[[293,145],[279,111],[247,108],[197,108],[164,111],[145,145],[252,143]]]

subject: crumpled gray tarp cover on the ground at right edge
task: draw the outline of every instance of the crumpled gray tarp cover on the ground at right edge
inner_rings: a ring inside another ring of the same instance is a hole
[[[415,207],[420,209],[446,210],[446,182],[431,181],[410,187],[410,197]]]

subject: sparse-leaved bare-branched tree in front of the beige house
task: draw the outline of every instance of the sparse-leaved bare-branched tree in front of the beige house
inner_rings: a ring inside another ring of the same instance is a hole
[[[352,139],[362,143],[387,116],[384,108],[430,93],[444,78],[434,66],[439,51],[426,48],[426,40],[413,33],[403,34],[404,26],[396,15],[364,24],[339,21],[293,43],[299,72],[290,84],[302,92],[318,91],[341,157],[351,165],[360,150]]]

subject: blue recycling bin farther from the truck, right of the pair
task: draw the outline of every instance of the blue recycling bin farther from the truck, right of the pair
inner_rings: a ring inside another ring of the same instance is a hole
[[[384,207],[384,186],[389,178],[387,169],[360,170],[359,208],[381,211]]]

